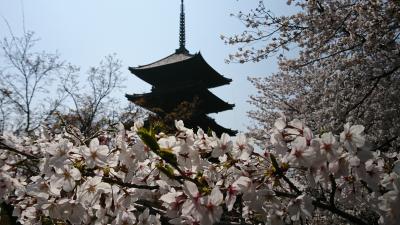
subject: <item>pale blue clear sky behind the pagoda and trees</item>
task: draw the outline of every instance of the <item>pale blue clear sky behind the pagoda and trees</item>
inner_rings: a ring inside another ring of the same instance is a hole
[[[237,46],[225,45],[220,36],[241,33],[245,27],[230,14],[248,12],[258,1],[185,0],[186,48],[191,53],[200,51],[211,67],[233,80],[211,91],[235,108],[210,116],[222,126],[242,132],[254,123],[246,112],[252,109],[247,101],[256,90],[247,77],[268,76],[277,70],[277,63],[268,59],[226,64],[225,59]],[[265,1],[265,5],[277,15],[291,10],[284,0]],[[126,88],[113,93],[121,103],[127,101],[125,93],[145,93],[151,88],[130,74],[129,66],[154,62],[178,48],[179,12],[180,0],[0,0],[0,16],[15,34],[22,34],[25,24],[26,30],[40,38],[37,50],[57,51],[81,71],[116,53],[126,78]],[[0,37],[8,33],[1,20]]]

